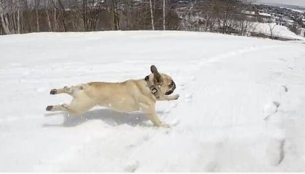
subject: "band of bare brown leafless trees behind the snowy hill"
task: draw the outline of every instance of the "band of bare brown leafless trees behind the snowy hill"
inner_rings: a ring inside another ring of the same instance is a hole
[[[246,35],[252,0],[0,0],[0,34],[191,30]]]

